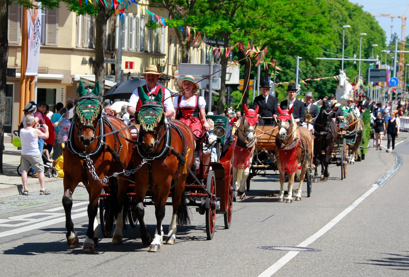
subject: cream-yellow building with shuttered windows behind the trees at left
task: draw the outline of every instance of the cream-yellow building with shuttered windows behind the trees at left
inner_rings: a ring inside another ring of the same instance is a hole
[[[124,14],[122,42],[122,80],[127,80],[128,72],[135,78],[148,64],[156,64],[164,73],[160,80],[169,89],[177,90],[173,79],[180,62],[179,42],[174,29],[160,27],[148,29],[146,23],[152,16],[145,9],[168,18],[169,12],[163,7],[150,5],[147,0],[128,7]],[[76,88],[80,80],[84,84],[94,84],[95,60],[95,19],[88,15],[77,16],[68,11],[65,4],[54,10],[42,10],[40,60],[35,101],[44,101],[54,111],[57,102],[65,103],[67,98],[76,99]],[[21,122],[20,66],[21,66],[21,15],[22,7],[9,7],[9,58],[7,67],[16,69],[16,77],[7,77],[7,108],[5,122],[5,142],[11,141],[11,133]],[[105,45],[106,81],[105,89],[116,84],[116,64],[119,36],[119,16],[111,17],[107,23]],[[201,53],[197,47],[191,48],[191,62],[200,62]],[[169,55],[168,55],[169,53]],[[135,69],[125,69],[126,62],[135,62]]]

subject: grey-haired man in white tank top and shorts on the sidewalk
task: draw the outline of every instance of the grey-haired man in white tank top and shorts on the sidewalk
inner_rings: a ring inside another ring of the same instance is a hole
[[[44,188],[44,164],[41,158],[40,150],[38,149],[38,139],[46,140],[48,138],[48,126],[42,126],[45,133],[40,131],[40,126],[34,121],[34,115],[27,115],[25,117],[26,126],[20,130],[21,139],[21,181],[23,183],[23,195],[28,195],[27,189],[27,172],[33,166],[38,173],[40,179],[40,195],[48,195],[49,191]],[[35,126],[37,125],[37,126]]]

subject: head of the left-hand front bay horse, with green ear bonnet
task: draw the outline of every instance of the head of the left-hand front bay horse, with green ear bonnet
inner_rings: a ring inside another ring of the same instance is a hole
[[[90,146],[95,140],[95,132],[102,112],[99,101],[100,89],[99,81],[92,90],[85,89],[82,81],[78,86],[79,98],[74,109],[74,125],[77,128],[79,140],[84,146]]]

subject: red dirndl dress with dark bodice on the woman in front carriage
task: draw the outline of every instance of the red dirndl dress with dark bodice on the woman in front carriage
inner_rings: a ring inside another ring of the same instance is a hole
[[[200,138],[204,135],[204,127],[202,125],[202,122],[200,121],[200,115],[199,115],[199,97],[198,95],[196,96],[196,105],[194,107],[181,107],[180,106],[180,101],[182,99],[181,96],[179,96],[178,99],[178,109],[179,109],[179,115],[177,117],[178,120],[182,121],[184,124],[189,126],[189,128],[192,130],[193,135],[196,138]]]

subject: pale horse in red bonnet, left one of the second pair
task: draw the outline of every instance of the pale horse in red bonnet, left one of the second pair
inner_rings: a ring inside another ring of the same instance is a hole
[[[236,197],[245,199],[245,186],[249,177],[249,166],[252,164],[255,131],[258,124],[258,106],[256,110],[247,109],[244,105],[244,116],[237,126],[237,143],[233,153],[233,186],[236,186]]]

